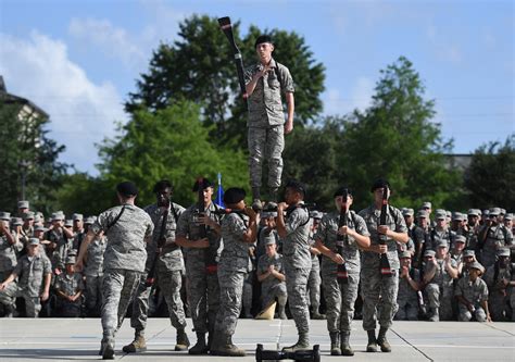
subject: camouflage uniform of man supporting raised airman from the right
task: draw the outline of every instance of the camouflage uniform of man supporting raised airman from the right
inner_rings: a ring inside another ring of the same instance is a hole
[[[286,289],[291,316],[299,334],[310,333],[310,311],[306,288],[311,269],[310,214],[304,208],[294,208],[285,222],[287,236],[282,242]]]

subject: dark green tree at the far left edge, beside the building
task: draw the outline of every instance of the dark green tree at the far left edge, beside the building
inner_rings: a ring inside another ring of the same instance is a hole
[[[51,211],[54,198],[48,190],[60,186],[67,165],[58,161],[64,146],[47,137],[48,122],[45,116],[22,112],[22,104],[0,98],[0,204],[5,211],[16,211],[23,177],[30,208],[45,213]]]

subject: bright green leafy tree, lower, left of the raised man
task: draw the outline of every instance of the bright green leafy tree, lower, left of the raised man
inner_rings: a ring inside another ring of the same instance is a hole
[[[194,201],[191,187],[198,176],[215,182],[221,172],[225,187],[248,187],[243,153],[215,145],[209,132],[192,102],[177,102],[155,113],[137,111],[115,139],[100,147],[100,177],[110,190],[123,179],[135,182],[139,204],[155,202],[152,187],[162,178],[172,180],[174,200],[181,204]]]

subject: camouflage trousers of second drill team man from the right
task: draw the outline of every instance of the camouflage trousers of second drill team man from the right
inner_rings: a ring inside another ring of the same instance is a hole
[[[327,329],[329,333],[351,330],[359,285],[359,273],[349,273],[349,282],[344,284],[338,283],[336,273],[324,274],[322,286],[327,307]]]

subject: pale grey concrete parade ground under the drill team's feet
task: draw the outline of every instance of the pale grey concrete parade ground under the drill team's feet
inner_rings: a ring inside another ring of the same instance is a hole
[[[188,336],[194,344],[191,320]],[[175,329],[166,319],[150,319],[148,351],[125,354],[122,347],[133,340],[126,320],[116,336],[116,360],[124,361],[255,361],[256,344],[277,349],[297,340],[292,320],[240,320],[234,342],[247,350],[246,358],[189,355],[175,352]],[[99,360],[101,339],[97,319],[2,319],[0,320],[0,361]],[[321,345],[322,361],[515,361],[515,323],[395,322],[388,334],[391,353],[366,353],[366,333],[361,321],[352,328],[353,358],[329,355],[325,321],[311,321],[311,342]]]

